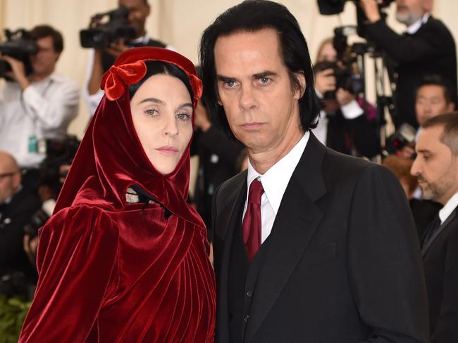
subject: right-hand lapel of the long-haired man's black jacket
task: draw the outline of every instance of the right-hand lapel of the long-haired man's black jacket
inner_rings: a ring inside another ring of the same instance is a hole
[[[245,342],[250,342],[307,250],[323,212],[314,201],[326,194],[321,164],[326,148],[313,134],[292,174],[259,268]]]

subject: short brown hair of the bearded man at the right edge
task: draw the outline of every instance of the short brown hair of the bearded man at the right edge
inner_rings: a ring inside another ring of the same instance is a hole
[[[443,127],[440,143],[447,145],[454,156],[458,156],[458,111],[436,115],[423,124],[423,129],[428,127]]]

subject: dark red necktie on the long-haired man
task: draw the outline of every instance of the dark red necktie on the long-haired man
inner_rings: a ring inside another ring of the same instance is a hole
[[[264,193],[262,184],[253,180],[249,186],[247,212],[242,223],[243,241],[251,261],[261,246],[261,196]]]

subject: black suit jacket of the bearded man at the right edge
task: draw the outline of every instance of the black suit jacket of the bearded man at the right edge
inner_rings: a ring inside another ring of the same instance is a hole
[[[421,250],[428,289],[431,343],[458,342],[458,215],[448,216]]]

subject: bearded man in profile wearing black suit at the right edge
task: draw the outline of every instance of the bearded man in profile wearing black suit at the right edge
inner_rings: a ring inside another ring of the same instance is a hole
[[[443,205],[421,240],[432,343],[458,342],[458,112],[423,124],[411,174]]]

